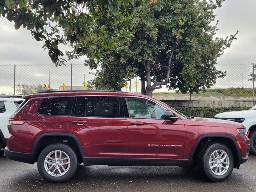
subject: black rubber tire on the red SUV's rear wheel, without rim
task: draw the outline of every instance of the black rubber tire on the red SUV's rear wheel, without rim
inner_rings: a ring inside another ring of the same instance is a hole
[[[68,169],[68,171],[66,172],[66,174],[62,175],[62,176],[58,176],[58,177],[54,177],[50,174],[48,174],[44,168],[44,160],[46,158],[46,156],[55,150],[61,150],[63,152],[65,152],[66,154],[68,154],[69,158],[70,158],[70,167]],[[38,161],[37,161],[37,168],[38,171],[40,173],[40,175],[45,179],[48,180],[49,182],[53,182],[53,183],[62,183],[65,182],[67,180],[69,180],[72,176],[74,176],[77,168],[78,168],[78,159],[76,156],[76,153],[74,152],[74,150],[72,148],[70,148],[69,146],[65,145],[65,144],[52,144],[47,146],[46,148],[44,148],[44,150],[42,150],[42,152],[40,153],[39,157],[38,157]]]

